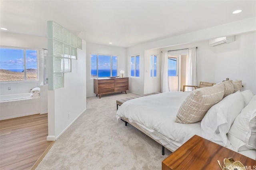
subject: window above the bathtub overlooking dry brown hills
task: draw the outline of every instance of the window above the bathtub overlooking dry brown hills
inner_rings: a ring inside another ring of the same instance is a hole
[[[0,81],[37,80],[35,49],[0,47]]]

